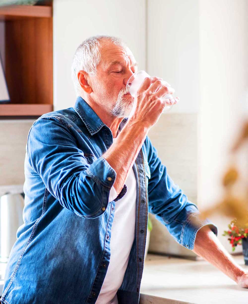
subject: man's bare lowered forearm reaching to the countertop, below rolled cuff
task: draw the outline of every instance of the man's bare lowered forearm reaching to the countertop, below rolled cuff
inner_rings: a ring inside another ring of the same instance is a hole
[[[208,226],[198,230],[193,251],[238,282],[245,271],[233,260]]]

